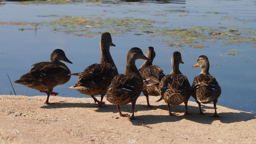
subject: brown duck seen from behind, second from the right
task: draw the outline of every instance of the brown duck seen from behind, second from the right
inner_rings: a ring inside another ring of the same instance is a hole
[[[187,111],[187,102],[190,97],[191,87],[187,77],[179,71],[179,63],[184,62],[182,61],[181,54],[175,51],[172,56],[172,71],[170,74],[164,76],[159,83],[159,91],[161,97],[167,103],[169,115],[179,115],[171,113],[170,104],[179,105],[182,102],[184,102],[186,109],[184,114],[189,114]]]

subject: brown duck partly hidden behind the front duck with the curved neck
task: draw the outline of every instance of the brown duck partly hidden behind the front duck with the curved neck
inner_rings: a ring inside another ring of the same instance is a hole
[[[139,72],[143,78],[143,88],[142,88],[142,93],[144,96],[146,96],[147,100],[147,105],[145,107],[152,107],[149,104],[148,101],[148,95],[151,96],[160,96],[160,92],[158,89],[159,83],[161,79],[165,76],[163,73],[163,70],[156,65],[152,65],[152,62],[156,56],[156,53],[154,51],[153,47],[148,47],[148,51],[146,53],[146,57],[149,58],[151,61],[145,61],[140,69]],[[161,101],[162,97],[160,97],[159,100]]]

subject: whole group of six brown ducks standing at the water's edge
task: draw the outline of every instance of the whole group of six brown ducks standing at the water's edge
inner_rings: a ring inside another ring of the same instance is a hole
[[[127,53],[125,73],[118,74],[118,69],[110,55],[110,46],[115,46],[112,43],[110,33],[102,33],[100,41],[101,59],[100,63],[92,64],[84,69],[81,73],[71,73],[69,68],[62,63],[65,61],[71,63],[66,57],[64,51],[56,49],[51,53],[51,62],[40,62],[33,64],[30,72],[21,76],[14,83],[29,88],[34,88],[38,91],[47,93],[45,104],[54,104],[49,102],[49,96],[56,94],[53,88],[57,85],[67,83],[71,75],[78,76],[78,81],[74,86],[80,93],[90,95],[94,99],[98,107],[102,107],[105,98],[112,104],[116,104],[120,116],[128,117],[127,119],[135,119],[134,107],[136,100],[141,91],[146,96],[146,107],[152,107],[149,104],[148,95],[161,96],[158,101],[164,99],[167,103],[169,115],[178,115],[172,113],[170,105],[179,105],[182,102],[185,104],[185,113],[187,103],[192,96],[198,103],[200,112],[201,103],[208,104],[213,101],[215,113],[213,117],[220,117],[216,111],[216,103],[221,93],[221,88],[216,79],[209,73],[209,61],[207,56],[200,56],[197,63],[192,67],[200,66],[202,71],[199,76],[194,78],[192,86],[186,76],[179,71],[179,63],[182,61],[181,53],[175,51],[172,56],[172,71],[168,75],[164,75],[163,70],[152,62],[156,56],[153,47],[148,47],[146,56],[140,48],[131,48]],[[135,65],[137,59],[146,60],[140,69]],[[101,95],[100,101],[95,98],[96,95]],[[132,104],[132,116],[122,114],[120,106]]]

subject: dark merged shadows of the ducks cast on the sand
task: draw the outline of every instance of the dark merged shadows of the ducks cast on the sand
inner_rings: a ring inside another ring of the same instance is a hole
[[[41,106],[42,109],[60,109],[60,108],[94,108],[93,110],[95,112],[100,113],[109,113],[113,112],[116,113],[117,117],[120,117],[118,114],[118,109],[116,105],[114,104],[106,104],[103,105],[104,107],[97,108],[97,104],[94,103],[66,103],[66,102],[58,102],[53,105],[45,105]],[[221,117],[210,117],[214,114],[214,108],[211,106],[205,106],[202,105],[202,111],[205,112],[205,109],[210,109],[210,113],[205,113],[205,115],[197,114],[199,112],[198,106],[188,106],[189,115],[183,115],[181,113],[185,112],[184,105],[177,105],[177,106],[171,106],[171,111],[179,114],[179,116],[169,116],[168,115],[168,108],[167,105],[159,105],[159,106],[153,106],[151,108],[143,107],[142,104],[136,104],[135,105],[135,120],[130,120],[133,125],[141,125],[141,124],[157,124],[162,122],[175,122],[175,121],[181,121],[182,119],[187,119],[189,121],[194,121],[201,124],[212,124],[213,121],[220,121],[225,124],[230,124],[234,122],[240,122],[240,121],[248,121],[251,119],[256,119],[256,114],[246,113],[246,112],[220,112],[218,113]],[[131,111],[131,104],[127,104],[125,106],[120,106],[120,110],[122,113],[128,113],[132,114]],[[97,108],[95,110],[95,108]],[[218,108],[218,106],[217,106]],[[138,115],[136,112],[138,111],[151,111],[161,109],[164,111],[165,115]],[[218,109],[217,109],[218,112]],[[125,119],[124,117],[120,117],[120,119]]]

